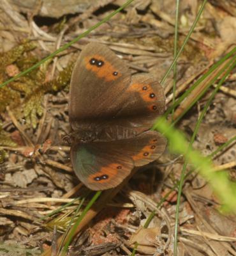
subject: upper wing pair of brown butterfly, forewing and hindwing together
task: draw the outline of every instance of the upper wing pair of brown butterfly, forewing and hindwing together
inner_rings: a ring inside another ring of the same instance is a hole
[[[74,130],[121,125],[150,129],[165,109],[163,88],[148,74],[131,74],[104,45],[86,45],[71,77],[70,123]]]

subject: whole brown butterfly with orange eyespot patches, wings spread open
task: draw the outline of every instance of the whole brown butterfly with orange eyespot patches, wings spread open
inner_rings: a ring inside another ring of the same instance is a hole
[[[85,45],[71,76],[71,162],[92,190],[115,188],[135,166],[158,159],[166,140],[151,129],[165,110],[163,88],[136,74],[107,46]]]

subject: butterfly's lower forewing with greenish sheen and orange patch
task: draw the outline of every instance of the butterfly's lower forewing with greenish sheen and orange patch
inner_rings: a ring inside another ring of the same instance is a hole
[[[78,144],[71,148],[73,169],[88,188],[115,188],[131,172],[133,161],[114,150],[114,142]]]

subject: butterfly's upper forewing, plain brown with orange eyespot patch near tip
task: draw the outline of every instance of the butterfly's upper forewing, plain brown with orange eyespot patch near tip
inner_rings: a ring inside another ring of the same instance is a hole
[[[131,74],[114,52],[104,45],[87,44],[71,76],[70,123],[74,130],[109,120],[122,108],[121,95]]]

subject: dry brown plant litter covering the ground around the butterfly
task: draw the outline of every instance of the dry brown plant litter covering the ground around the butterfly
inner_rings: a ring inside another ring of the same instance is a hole
[[[124,1],[65,3],[0,1],[1,83],[70,42]],[[201,3],[181,1],[179,46]],[[70,147],[63,140],[70,133],[71,70],[82,47],[91,41],[106,44],[126,61],[133,74],[149,72],[160,81],[173,60],[174,25],[174,0],[133,1],[52,61],[0,88],[0,255],[40,255],[51,245],[55,255],[57,237],[80,204],[71,198],[87,195],[71,172]],[[209,1],[178,60],[177,97],[228,52],[235,39],[235,0]],[[236,134],[235,84],[234,70],[201,124],[193,147],[205,156]],[[165,82],[168,106],[173,99],[172,85],[171,75]],[[186,136],[193,133],[212,90],[213,86],[177,124]],[[235,180],[235,156],[235,143],[214,156],[216,172],[228,172],[229,179]],[[172,255],[177,192],[168,193],[180,177],[183,159],[166,152],[160,162],[138,170],[129,185],[96,218],[87,221],[68,255],[131,255],[136,242],[140,244],[136,255]],[[70,205],[43,218],[65,204]],[[221,214],[219,204],[198,173],[188,176],[179,212],[179,255],[236,255],[236,219]],[[152,211],[156,215],[144,228]]]

